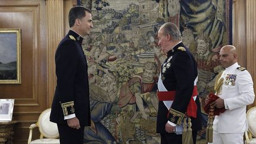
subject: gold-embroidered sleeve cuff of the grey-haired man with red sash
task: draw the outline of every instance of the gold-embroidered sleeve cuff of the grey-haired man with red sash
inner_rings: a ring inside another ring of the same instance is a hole
[[[180,125],[184,115],[185,115],[184,113],[181,113],[180,111],[177,111],[171,108],[169,110],[168,120],[171,121],[172,123]]]

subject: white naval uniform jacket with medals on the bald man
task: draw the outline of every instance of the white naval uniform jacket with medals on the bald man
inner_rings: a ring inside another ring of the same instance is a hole
[[[215,116],[213,130],[219,133],[244,133],[247,130],[246,107],[254,102],[254,88],[247,70],[240,71],[238,63],[223,71],[222,91],[218,95],[224,99],[224,113]],[[236,78],[235,78],[236,77]]]

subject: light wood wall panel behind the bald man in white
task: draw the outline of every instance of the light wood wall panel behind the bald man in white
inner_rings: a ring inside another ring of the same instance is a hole
[[[238,49],[239,65],[244,66],[251,73],[254,93],[256,92],[255,7],[255,0],[233,0],[233,46]],[[252,106],[256,106],[255,100],[248,108]]]

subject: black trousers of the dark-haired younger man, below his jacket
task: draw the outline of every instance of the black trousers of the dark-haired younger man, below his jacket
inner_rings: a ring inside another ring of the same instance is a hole
[[[84,127],[73,129],[65,124],[57,124],[60,144],[84,144]]]

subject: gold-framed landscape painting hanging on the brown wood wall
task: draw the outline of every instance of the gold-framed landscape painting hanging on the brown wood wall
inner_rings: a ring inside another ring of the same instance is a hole
[[[0,84],[21,84],[21,30],[0,28]]]

